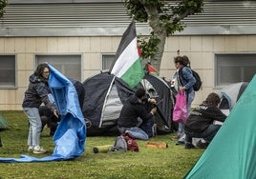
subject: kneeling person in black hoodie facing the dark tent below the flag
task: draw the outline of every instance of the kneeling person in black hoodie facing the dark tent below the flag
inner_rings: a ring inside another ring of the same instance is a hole
[[[120,133],[126,132],[130,136],[141,140],[147,140],[153,135],[153,115],[157,112],[157,108],[153,108],[148,112],[145,103],[156,104],[157,101],[146,98],[145,89],[138,89],[135,95],[131,96],[129,101],[123,105],[120,111],[120,116],[117,120],[117,128]]]

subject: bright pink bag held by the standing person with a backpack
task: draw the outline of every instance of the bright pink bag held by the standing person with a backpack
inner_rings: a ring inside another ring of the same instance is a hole
[[[173,109],[173,121],[183,124],[187,117],[186,95],[185,92],[181,91],[176,95],[176,104]]]

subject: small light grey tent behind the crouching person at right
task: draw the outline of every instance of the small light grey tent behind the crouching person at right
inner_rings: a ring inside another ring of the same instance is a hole
[[[219,108],[222,109],[222,111],[225,114],[229,114],[231,109],[234,108],[238,99],[240,98],[242,93],[245,91],[247,85],[248,83],[246,82],[240,82],[240,83],[234,83],[234,84],[228,85],[224,87],[224,89],[221,89],[220,91],[221,103]]]

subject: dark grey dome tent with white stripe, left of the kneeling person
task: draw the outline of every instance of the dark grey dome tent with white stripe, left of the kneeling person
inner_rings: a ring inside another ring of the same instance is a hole
[[[88,135],[117,133],[117,118],[124,101],[134,93],[123,81],[101,72],[83,82],[83,115],[90,127]]]

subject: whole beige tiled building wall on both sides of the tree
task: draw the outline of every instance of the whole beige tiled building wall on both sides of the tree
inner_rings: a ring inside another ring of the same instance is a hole
[[[15,54],[17,89],[0,89],[0,110],[22,109],[29,76],[35,68],[36,54],[82,54],[82,82],[101,70],[101,55],[115,53],[120,37],[9,37],[0,38],[0,54]],[[160,76],[170,80],[175,72],[173,58],[190,58],[191,66],[203,80],[203,90],[196,92],[193,106],[214,89],[214,54],[219,52],[256,52],[256,35],[172,36],[166,40]]]

